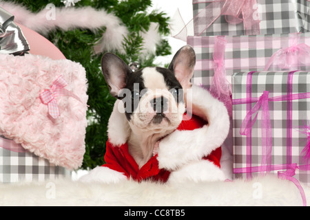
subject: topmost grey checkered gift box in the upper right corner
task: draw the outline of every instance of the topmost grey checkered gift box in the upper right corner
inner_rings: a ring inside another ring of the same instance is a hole
[[[220,16],[223,8],[230,2],[237,5],[236,15],[246,17],[245,21],[248,23],[228,23],[225,15]],[[309,32],[309,6],[310,2],[307,0],[193,0],[194,35],[238,36]],[[251,26],[251,20],[259,21],[255,24],[259,26],[259,32],[247,27]]]

